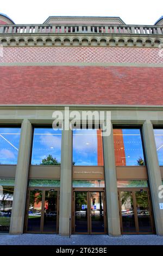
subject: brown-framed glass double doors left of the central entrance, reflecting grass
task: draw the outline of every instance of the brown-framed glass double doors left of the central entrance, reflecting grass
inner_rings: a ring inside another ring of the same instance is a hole
[[[30,188],[27,207],[27,233],[58,233],[59,191]]]

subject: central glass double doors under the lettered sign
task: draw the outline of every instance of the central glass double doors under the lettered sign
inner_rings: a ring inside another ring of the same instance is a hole
[[[74,191],[73,201],[73,233],[105,234],[104,191]]]

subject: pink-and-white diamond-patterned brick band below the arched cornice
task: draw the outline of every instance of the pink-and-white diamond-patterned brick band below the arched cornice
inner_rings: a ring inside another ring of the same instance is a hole
[[[4,47],[0,63],[163,63],[160,48]]]

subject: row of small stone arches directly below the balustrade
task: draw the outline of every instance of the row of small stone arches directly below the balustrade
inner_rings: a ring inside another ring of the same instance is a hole
[[[162,36],[130,35],[0,35],[3,46],[126,46],[158,47],[163,44]]]

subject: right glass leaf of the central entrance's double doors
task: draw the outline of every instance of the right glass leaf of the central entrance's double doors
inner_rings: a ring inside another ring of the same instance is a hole
[[[91,231],[104,232],[104,208],[103,208],[104,192],[90,192],[91,200]]]

